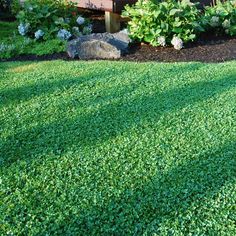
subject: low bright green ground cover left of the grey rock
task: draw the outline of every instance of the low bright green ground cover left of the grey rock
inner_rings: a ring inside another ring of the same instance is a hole
[[[0,21],[0,59],[35,54],[38,56],[65,51],[65,42],[52,39],[46,42],[23,38],[17,34],[16,22]]]

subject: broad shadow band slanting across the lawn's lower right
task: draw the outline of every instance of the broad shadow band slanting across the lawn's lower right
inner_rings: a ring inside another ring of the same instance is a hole
[[[214,224],[205,222],[213,221],[211,217],[215,216],[208,208],[211,200],[236,178],[236,143],[226,143],[196,158],[189,156],[189,161],[174,165],[165,173],[158,174],[158,168],[156,172],[146,185],[126,189],[119,198],[85,209],[81,215],[69,215],[61,224],[52,224],[53,229],[64,235],[172,235],[173,230],[188,235],[200,228],[201,234],[218,235]],[[232,211],[233,208],[229,219]],[[175,229],[168,228],[171,222]],[[231,221],[221,219],[221,223],[227,228]],[[51,230],[45,229],[45,233]]]

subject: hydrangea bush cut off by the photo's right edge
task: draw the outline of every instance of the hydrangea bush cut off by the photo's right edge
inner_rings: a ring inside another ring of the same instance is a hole
[[[216,5],[206,7],[203,24],[218,34],[236,35],[236,0],[217,1]]]

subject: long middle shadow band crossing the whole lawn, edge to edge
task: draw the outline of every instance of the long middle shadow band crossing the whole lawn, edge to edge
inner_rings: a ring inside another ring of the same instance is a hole
[[[158,121],[163,114],[213,98],[235,86],[232,73],[218,80],[201,81],[164,93],[136,96],[128,101],[101,102],[96,111],[72,118],[68,114],[51,123],[40,124],[23,132],[16,131],[0,143],[1,164],[8,166],[18,158],[30,160],[48,153],[63,154],[73,148],[93,146],[122,135],[134,126],[141,127],[145,122]],[[112,98],[109,96],[107,99]],[[69,104],[66,106],[69,107]]]

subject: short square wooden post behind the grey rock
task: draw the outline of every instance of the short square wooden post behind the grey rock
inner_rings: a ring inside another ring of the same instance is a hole
[[[120,31],[120,15],[105,11],[105,24],[106,31],[109,33],[115,33]]]

